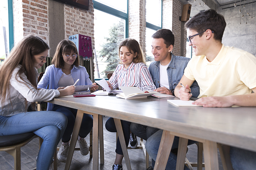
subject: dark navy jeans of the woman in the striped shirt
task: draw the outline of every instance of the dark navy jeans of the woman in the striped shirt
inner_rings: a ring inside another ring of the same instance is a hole
[[[128,144],[130,141],[130,124],[131,124],[131,122],[121,120],[121,124],[122,124],[122,129],[124,132],[125,144],[126,144],[126,147],[128,147]],[[110,117],[106,121],[105,127],[106,127],[106,130],[108,130],[109,132],[117,132],[116,125],[115,125],[114,119],[112,117]],[[116,153],[119,155],[124,155],[120,141],[119,141],[119,137],[117,138],[117,141],[116,141]]]

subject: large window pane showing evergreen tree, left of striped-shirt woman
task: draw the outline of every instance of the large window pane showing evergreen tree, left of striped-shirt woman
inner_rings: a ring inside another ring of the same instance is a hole
[[[94,38],[94,78],[106,78],[120,62],[118,52],[125,39],[125,20],[94,9]]]

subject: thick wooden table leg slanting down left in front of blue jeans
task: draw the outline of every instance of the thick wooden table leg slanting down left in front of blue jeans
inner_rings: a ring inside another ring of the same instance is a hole
[[[169,131],[163,131],[160,146],[157,152],[155,170],[165,170],[173,143],[174,135]],[[184,162],[185,163],[185,162]]]

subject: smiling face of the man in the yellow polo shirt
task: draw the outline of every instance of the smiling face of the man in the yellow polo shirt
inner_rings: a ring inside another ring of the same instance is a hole
[[[188,29],[187,34],[188,36],[193,36],[195,34],[198,34],[198,32]],[[203,32],[203,35],[204,34],[205,32]],[[199,35],[196,35],[190,38],[191,42],[189,41],[188,45],[193,48],[196,56],[205,55],[204,45],[206,42],[204,42],[203,35],[201,37]]]

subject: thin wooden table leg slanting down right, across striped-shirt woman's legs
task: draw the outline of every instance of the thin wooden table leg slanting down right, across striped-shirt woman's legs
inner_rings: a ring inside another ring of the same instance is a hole
[[[123,151],[123,154],[124,154],[124,157],[125,157],[125,163],[126,163],[127,170],[131,170],[130,159],[129,159],[129,155],[128,155],[128,152],[127,152],[127,147],[126,147],[126,144],[125,144],[125,137],[124,137],[121,121],[120,121],[120,119],[115,119],[115,118],[114,118],[114,121],[115,121],[115,125],[116,125],[117,134],[118,134],[118,137],[119,137],[119,140],[120,140],[120,144],[121,144],[121,147],[122,147],[122,151]]]

